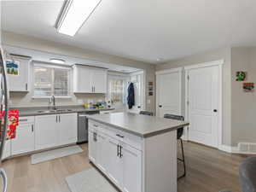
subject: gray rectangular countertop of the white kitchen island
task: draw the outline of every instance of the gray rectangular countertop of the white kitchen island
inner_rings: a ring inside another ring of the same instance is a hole
[[[90,115],[88,118],[139,137],[152,137],[189,125],[189,122],[186,121],[164,119],[137,113],[96,114]]]

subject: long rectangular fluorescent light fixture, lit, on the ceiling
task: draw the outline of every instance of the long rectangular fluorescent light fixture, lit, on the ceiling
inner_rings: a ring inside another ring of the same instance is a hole
[[[57,31],[74,36],[102,0],[67,0],[57,23]]]

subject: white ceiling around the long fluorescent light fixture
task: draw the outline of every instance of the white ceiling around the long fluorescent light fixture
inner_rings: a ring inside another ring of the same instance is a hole
[[[102,0],[74,38],[55,30],[62,4],[3,1],[3,30],[152,63],[256,45],[255,0]]]

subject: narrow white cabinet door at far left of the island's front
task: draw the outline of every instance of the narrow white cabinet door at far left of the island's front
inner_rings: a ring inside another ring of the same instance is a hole
[[[89,160],[96,164],[97,137],[96,132],[90,131],[88,135],[88,156]]]

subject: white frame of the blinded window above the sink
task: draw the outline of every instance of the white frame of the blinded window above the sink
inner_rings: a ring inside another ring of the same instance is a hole
[[[52,74],[51,74],[51,82],[53,83],[53,86],[51,87],[51,95],[50,96],[35,96],[35,73],[34,69],[35,67],[45,67],[45,68],[51,68]],[[67,83],[67,96],[55,96],[54,94],[54,82],[55,82],[55,76],[54,76],[54,69],[64,69],[67,70],[67,75],[68,75],[68,83]],[[66,66],[61,66],[61,65],[55,65],[52,63],[44,62],[44,61],[33,61],[32,62],[32,98],[35,99],[49,99],[51,96],[55,96],[55,98],[72,98],[72,67],[66,67]]]

